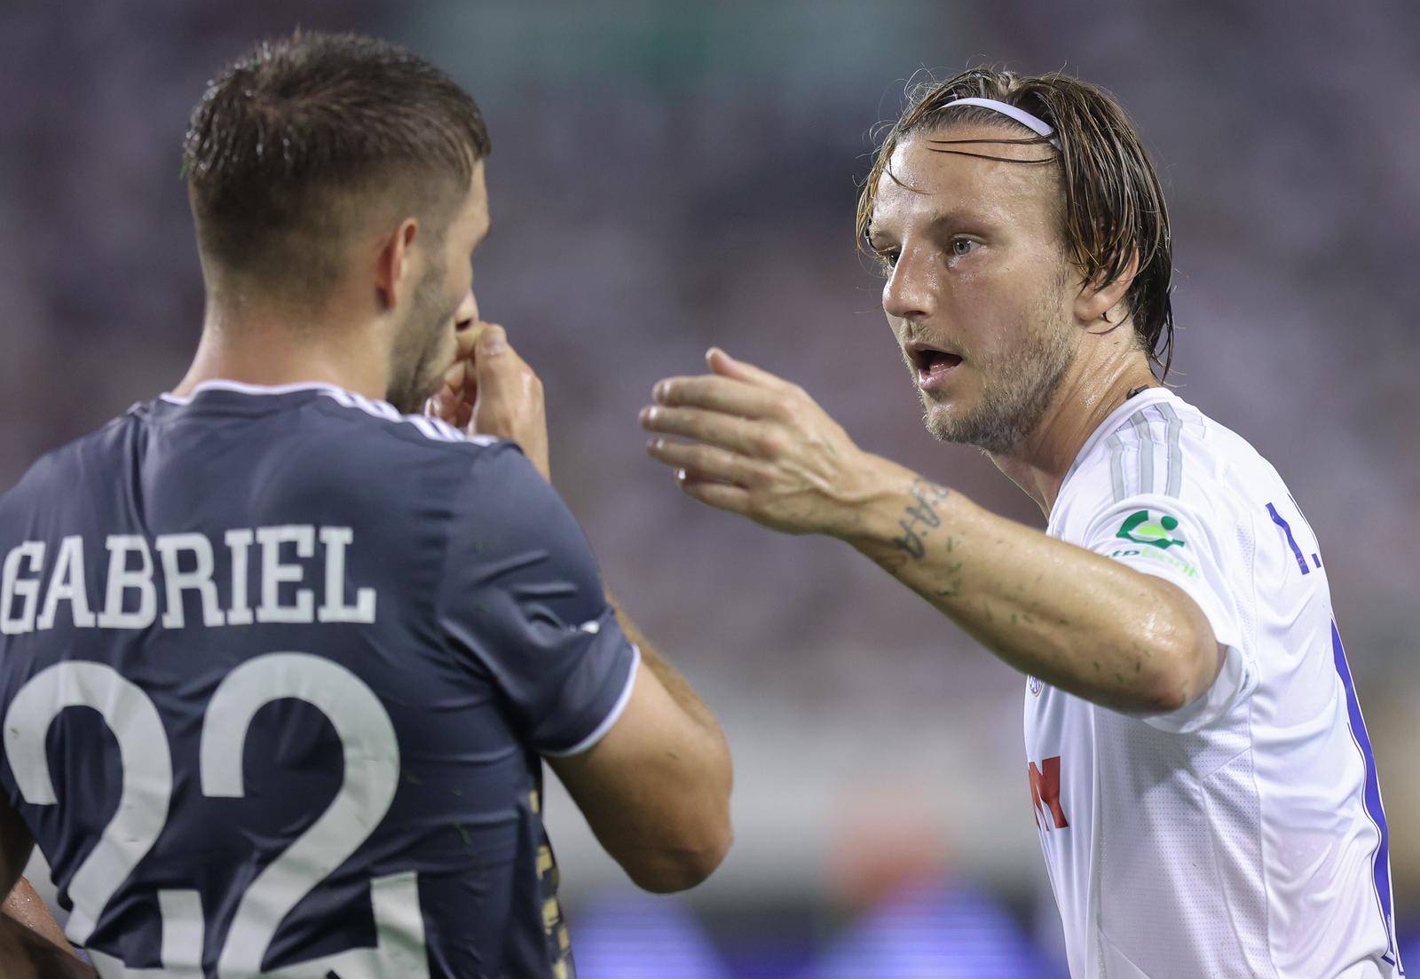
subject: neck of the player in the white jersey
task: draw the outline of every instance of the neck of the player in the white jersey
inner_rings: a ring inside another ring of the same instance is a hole
[[[1048,517],[1065,473],[1103,421],[1140,386],[1156,386],[1149,362],[1130,348],[1076,357],[1039,425],[1020,445],[991,455],[997,469],[1035,500]]]

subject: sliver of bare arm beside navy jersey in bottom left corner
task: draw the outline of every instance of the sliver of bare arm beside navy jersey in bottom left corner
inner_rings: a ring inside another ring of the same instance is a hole
[[[28,979],[92,979],[64,938],[50,909],[20,877],[34,840],[9,801],[0,799],[0,887],[9,897],[0,914],[0,976]]]

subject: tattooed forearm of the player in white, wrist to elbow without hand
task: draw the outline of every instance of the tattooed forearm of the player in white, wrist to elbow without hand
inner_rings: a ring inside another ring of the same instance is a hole
[[[1207,622],[1181,591],[893,470],[845,540],[1001,659],[1122,710],[1201,692],[1180,661]]]

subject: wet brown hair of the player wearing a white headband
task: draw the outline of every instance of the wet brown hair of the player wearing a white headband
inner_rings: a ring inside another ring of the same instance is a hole
[[[1139,271],[1125,298],[1139,344],[1162,368],[1160,377],[1167,377],[1173,361],[1169,209],[1139,134],[1119,101],[1103,88],[1059,72],[1018,75],[995,68],[971,68],[947,81],[913,85],[897,122],[885,129],[858,198],[859,244],[866,242],[872,223],[878,182],[905,136],[961,122],[1017,125],[990,108],[947,105],[970,97],[1007,102],[1055,128],[1058,153],[1044,136],[1007,142],[1039,144],[1051,152],[1041,162],[1059,161],[1065,196],[1062,230],[1071,259],[1086,281],[1118,278],[1137,250]]]

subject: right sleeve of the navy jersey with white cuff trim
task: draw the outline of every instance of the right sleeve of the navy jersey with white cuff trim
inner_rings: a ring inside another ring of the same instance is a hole
[[[592,747],[630,699],[640,652],[582,529],[513,443],[484,449],[453,517],[439,615],[541,754]]]

